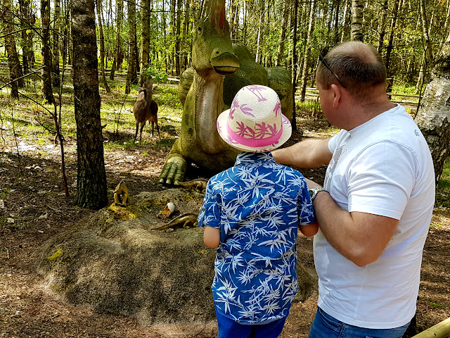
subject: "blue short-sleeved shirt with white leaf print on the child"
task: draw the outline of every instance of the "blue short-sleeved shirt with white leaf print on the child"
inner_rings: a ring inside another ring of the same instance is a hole
[[[241,153],[210,179],[198,225],[220,229],[212,294],[238,323],[284,318],[297,294],[298,225],[314,222],[300,172],[271,153]]]

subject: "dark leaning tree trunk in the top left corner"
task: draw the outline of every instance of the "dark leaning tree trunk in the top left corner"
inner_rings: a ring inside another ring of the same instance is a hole
[[[17,80],[23,75],[20,66],[19,56],[15,47],[15,39],[13,33],[13,18],[11,15],[11,6],[9,0],[3,0],[3,23],[5,34],[5,47],[8,54],[9,76],[11,79],[11,96],[18,98],[18,87],[23,87],[23,79]]]

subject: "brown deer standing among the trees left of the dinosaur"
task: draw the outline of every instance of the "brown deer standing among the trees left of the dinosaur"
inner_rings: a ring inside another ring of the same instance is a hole
[[[136,137],[138,136],[139,125],[141,125],[139,141],[142,141],[142,130],[147,121],[152,123],[152,136],[156,125],[158,137],[160,137],[160,127],[158,126],[158,104],[156,104],[155,100],[152,99],[153,89],[153,81],[151,77],[143,84],[143,87],[139,87],[137,89],[139,95],[133,106],[133,115],[136,119],[136,133],[134,134],[134,141],[136,141]]]

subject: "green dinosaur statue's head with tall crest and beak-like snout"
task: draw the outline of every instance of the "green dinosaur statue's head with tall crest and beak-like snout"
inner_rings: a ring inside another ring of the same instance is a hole
[[[207,16],[197,24],[192,46],[192,65],[197,73],[234,73],[239,59],[233,54],[230,27],[225,17],[225,0],[210,0]]]

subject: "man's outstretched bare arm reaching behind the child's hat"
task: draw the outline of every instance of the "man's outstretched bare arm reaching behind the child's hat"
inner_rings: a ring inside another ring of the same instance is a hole
[[[305,139],[286,148],[272,151],[276,163],[300,168],[317,168],[330,163],[329,139]]]

